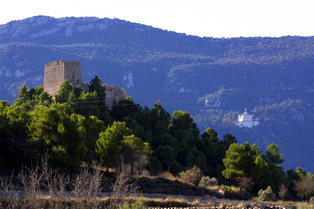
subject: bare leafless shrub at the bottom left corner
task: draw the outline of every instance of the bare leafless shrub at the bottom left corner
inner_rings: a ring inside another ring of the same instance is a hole
[[[1,180],[0,184],[0,208],[19,208],[23,205],[19,197],[19,191],[17,191],[17,185],[13,182],[13,172],[11,177]]]

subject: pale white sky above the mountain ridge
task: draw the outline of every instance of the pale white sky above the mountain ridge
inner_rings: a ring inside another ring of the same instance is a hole
[[[0,0],[0,24],[35,15],[116,17],[201,37],[314,35],[314,0]]]

